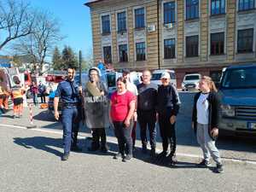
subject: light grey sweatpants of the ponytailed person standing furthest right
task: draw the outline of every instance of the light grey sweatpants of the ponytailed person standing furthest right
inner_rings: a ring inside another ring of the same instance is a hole
[[[215,146],[215,141],[209,136],[208,125],[197,123],[196,137],[203,151],[204,159],[209,161],[212,155],[212,159],[217,164],[221,164],[218,148]]]

